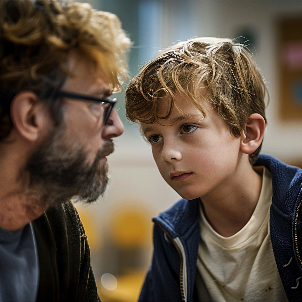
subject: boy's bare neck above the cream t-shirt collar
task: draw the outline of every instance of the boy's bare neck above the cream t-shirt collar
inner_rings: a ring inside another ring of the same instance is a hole
[[[252,166],[241,165],[226,182],[201,200],[204,214],[213,229],[224,237],[236,234],[246,225],[257,205],[262,176]]]

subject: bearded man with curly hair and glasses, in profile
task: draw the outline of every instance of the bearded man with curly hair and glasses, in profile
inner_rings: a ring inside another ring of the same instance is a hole
[[[0,300],[99,301],[69,201],[108,183],[130,40],[85,3],[0,1]]]

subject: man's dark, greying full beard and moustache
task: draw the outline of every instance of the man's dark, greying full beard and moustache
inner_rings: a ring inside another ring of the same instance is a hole
[[[108,185],[108,164],[100,160],[114,151],[112,140],[98,151],[91,165],[79,139],[68,140],[64,134],[64,127],[57,128],[27,162],[27,193],[38,207],[59,205],[71,198],[91,203],[103,196]]]

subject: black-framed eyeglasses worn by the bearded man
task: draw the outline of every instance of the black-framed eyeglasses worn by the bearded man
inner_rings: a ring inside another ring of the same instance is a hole
[[[79,93],[73,93],[73,92],[67,92],[67,91],[58,91],[59,97],[65,97],[65,98],[72,98],[75,100],[82,100],[82,101],[94,101],[99,102],[102,105],[104,105],[104,125],[106,125],[107,120],[111,114],[111,111],[117,102],[117,98],[113,98],[112,100],[110,98],[96,98],[91,95],[82,95]]]

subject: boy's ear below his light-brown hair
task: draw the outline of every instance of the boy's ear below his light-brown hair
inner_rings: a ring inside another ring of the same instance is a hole
[[[258,113],[250,115],[241,136],[240,150],[246,154],[255,152],[262,143],[264,131],[265,120],[262,115]]]

